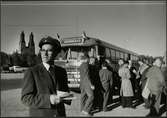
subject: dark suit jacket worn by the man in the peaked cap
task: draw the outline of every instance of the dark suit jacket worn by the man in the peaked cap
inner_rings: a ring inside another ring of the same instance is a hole
[[[21,101],[29,106],[30,116],[65,116],[64,103],[51,105],[50,95],[57,90],[69,91],[67,74],[58,66],[54,66],[54,71],[55,78],[52,78],[43,64],[38,64],[25,72]]]

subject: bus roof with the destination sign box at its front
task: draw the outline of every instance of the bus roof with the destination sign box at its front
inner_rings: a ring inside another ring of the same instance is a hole
[[[93,46],[93,45],[100,45],[100,46],[105,46],[108,48],[112,48],[114,50],[118,50],[118,51],[123,51],[126,53],[130,53],[133,55],[138,55],[137,53],[127,50],[127,49],[123,49],[121,47],[118,47],[116,45],[113,45],[111,43],[102,41],[100,39],[97,38],[93,38],[93,37],[86,37],[86,39],[84,39],[82,36],[79,37],[68,37],[68,38],[62,38],[61,39],[61,46],[62,47],[69,47],[69,46]]]

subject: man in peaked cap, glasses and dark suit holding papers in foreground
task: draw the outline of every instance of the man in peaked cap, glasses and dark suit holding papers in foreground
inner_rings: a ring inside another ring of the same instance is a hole
[[[54,65],[54,58],[61,50],[60,42],[52,37],[39,42],[42,63],[30,67],[24,74],[21,101],[35,117],[65,116],[64,101],[58,90],[68,93],[65,69]]]

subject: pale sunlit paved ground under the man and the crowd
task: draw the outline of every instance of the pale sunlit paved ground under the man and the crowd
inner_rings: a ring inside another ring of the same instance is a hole
[[[22,74],[1,75],[1,117],[26,117],[29,116],[28,108],[20,102]],[[9,79],[10,78],[10,79]],[[83,116],[80,114],[80,94],[73,92],[77,97],[72,101],[71,106],[66,106],[67,116]],[[114,103],[109,105],[112,110],[108,112],[95,112],[94,116],[146,116],[149,110],[143,104],[137,105],[136,109],[125,108],[117,102],[114,96]],[[133,101],[135,103],[135,101]],[[161,105],[162,116],[166,116],[165,107]]]

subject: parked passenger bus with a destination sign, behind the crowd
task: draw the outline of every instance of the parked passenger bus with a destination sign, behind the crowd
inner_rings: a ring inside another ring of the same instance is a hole
[[[82,60],[80,57],[86,52],[90,57],[102,58],[109,60],[113,70],[118,71],[118,60],[138,60],[138,54],[132,51],[112,45],[98,38],[88,37],[83,33],[78,37],[67,37],[60,39],[62,46],[61,52],[54,60],[55,65],[66,69],[68,76],[68,86],[70,88],[80,87],[79,67]]]

